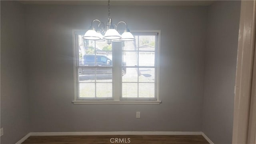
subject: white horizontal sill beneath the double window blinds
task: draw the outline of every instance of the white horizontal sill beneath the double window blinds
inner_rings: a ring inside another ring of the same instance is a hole
[[[138,100],[91,100],[91,101],[72,101],[73,104],[160,104],[161,101],[138,101]]]

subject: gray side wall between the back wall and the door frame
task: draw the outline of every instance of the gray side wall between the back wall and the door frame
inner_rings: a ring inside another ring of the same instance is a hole
[[[203,132],[215,144],[232,143],[240,1],[218,1],[208,10]]]

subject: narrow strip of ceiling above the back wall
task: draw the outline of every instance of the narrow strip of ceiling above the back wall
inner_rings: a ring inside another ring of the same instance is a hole
[[[21,0],[22,4],[108,5],[107,0]],[[214,0],[111,0],[112,6],[209,6]]]

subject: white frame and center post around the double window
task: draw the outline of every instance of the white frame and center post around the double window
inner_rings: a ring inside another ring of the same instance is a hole
[[[119,72],[118,68],[121,66],[121,60],[114,60],[113,57],[113,99],[112,100],[78,100],[76,97],[76,39],[75,34],[76,32],[86,32],[86,30],[72,30],[72,37],[73,37],[73,78],[74,78],[74,100],[72,101],[73,104],[160,104],[160,36],[161,30],[134,30],[131,31],[132,33],[158,33],[158,48],[157,48],[157,68],[156,68],[156,100],[122,100],[121,99],[121,92],[120,90],[120,83],[118,81],[117,75]],[[118,56],[116,58],[122,58],[122,50],[120,51],[113,51],[113,55],[116,53]]]

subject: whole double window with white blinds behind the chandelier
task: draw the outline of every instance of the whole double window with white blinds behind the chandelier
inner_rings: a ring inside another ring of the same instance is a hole
[[[74,32],[74,104],[159,104],[158,32],[135,40],[84,40]]]

